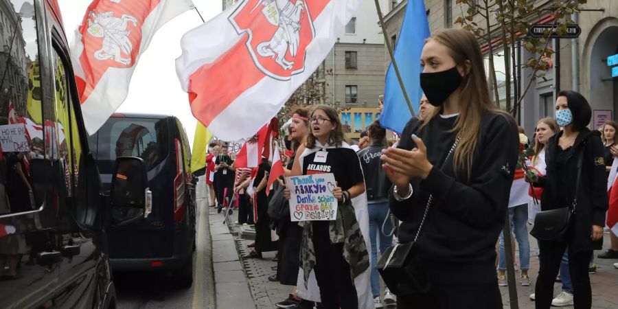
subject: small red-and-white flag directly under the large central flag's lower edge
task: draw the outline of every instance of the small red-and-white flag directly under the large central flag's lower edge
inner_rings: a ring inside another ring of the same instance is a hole
[[[277,137],[277,118],[262,126],[258,133],[244,142],[240,152],[236,155],[234,166],[236,168],[255,168],[260,165],[262,156],[271,158],[271,145],[273,138]]]

